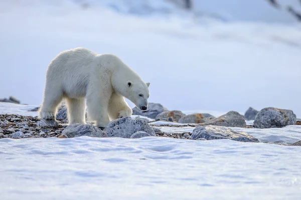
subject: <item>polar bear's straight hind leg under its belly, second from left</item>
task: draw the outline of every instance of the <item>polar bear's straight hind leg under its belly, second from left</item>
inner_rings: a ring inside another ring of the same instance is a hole
[[[86,100],[85,98],[69,98],[65,97],[67,103],[67,115],[69,124],[81,123],[85,124]]]

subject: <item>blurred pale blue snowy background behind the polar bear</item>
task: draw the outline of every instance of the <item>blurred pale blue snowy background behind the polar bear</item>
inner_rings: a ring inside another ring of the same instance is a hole
[[[81,46],[118,55],[170,110],[301,116],[301,0],[0,0],[0,27],[0,98],[40,105],[50,61]]]

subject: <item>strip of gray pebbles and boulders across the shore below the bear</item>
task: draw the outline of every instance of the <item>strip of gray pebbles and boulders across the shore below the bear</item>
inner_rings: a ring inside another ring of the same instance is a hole
[[[37,111],[37,109],[38,107],[30,111]],[[268,128],[284,127],[290,124],[301,125],[301,120],[299,121],[291,110],[273,107],[263,108],[260,111],[250,107],[245,115],[229,111],[215,117],[209,113],[184,114],[180,110],[168,110],[160,103],[149,103],[147,111],[133,108],[133,114],[138,116],[116,119],[111,121],[106,128],[100,128],[88,121],[87,124],[68,125],[67,107],[64,104],[59,108],[56,121],[40,120],[37,116],[0,114],[0,138],[68,138],[82,135],[124,138],[159,136],[194,140],[225,138],[243,142],[259,142],[252,135],[234,131],[230,127]],[[247,125],[246,119],[254,120],[254,124]],[[195,128],[192,132],[168,133],[162,132],[160,127]],[[291,145],[300,145],[300,143],[299,141]]]

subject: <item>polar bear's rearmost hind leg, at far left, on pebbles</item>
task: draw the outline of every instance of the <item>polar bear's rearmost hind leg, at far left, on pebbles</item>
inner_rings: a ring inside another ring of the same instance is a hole
[[[39,109],[39,117],[44,119],[56,119],[57,108],[62,99],[62,92],[55,90],[55,92],[49,93],[46,90],[42,106]]]

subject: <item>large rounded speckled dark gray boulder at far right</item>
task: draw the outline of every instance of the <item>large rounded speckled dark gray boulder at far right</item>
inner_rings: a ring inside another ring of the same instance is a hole
[[[255,117],[255,128],[274,128],[296,124],[296,115],[292,110],[265,107]]]

